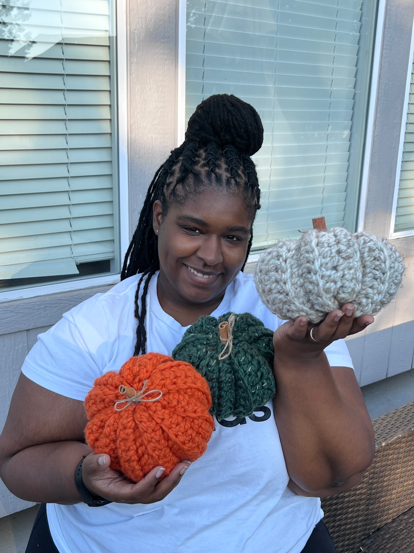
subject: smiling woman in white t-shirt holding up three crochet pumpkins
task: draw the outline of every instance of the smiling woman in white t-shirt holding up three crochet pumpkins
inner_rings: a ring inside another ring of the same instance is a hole
[[[227,95],[203,101],[151,182],[121,283],[65,314],[26,358],[0,474],[18,497],[47,503],[28,552],[335,551],[319,498],[357,484],[374,453],[341,339],[373,317],[354,319],[346,304],[311,337],[305,317],[283,324],[240,272],[260,207],[250,155],[262,141],[252,106]],[[132,354],[171,354],[198,317],[227,311],[251,312],[275,331],[273,406],[216,421],[192,466],[183,460],[161,481],[163,467],[155,467],[131,483],[84,444],[82,400],[95,378]],[[73,479],[83,455],[82,498],[97,509],[82,502]]]

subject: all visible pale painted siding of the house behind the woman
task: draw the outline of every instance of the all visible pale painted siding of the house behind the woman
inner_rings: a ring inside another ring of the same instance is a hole
[[[130,234],[155,170],[176,146],[176,0],[130,0],[128,11],[128,154]],[[364,230],[388,236],[404,109],[414,3],[386,0],[378,95],[368,177]],[[414,237],[394,241],[406,255],[404,286],[375,325],[347,340],[360,385],[404,372],[414,354]],[[36,336],[63,312],[93,294],[95,286],[0,303],[0,429],[23,360]],[[0,517],[30,507],[0,483]]]

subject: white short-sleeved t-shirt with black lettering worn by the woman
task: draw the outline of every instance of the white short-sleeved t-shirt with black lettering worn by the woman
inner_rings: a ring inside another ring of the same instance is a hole
[[[134,351],[137,279],[82,302],[39,335],[22,368],[26,377],[83,400],[95,378],[118,371]],[[147,296],[147,351],[171,355],[188,327],[161,309],[156,280]],[[250,312],[272,330],[283,322],[243,273],[211,315],[228,311]],[[352,367],[343,340],[326,354],[331,366]],[[320,499],[296,495],[288,480],[270,401],[245,419],[215,419],[207,451],[162,501],[99,508],[48,504],[47,517],[61,553],[300,553],[323,512]]]

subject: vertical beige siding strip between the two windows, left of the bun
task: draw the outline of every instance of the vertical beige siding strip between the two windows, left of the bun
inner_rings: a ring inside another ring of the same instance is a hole
[[[148,185],[176,146],[175,0],[131,2],[129,50],[128,153],[132,235]]]

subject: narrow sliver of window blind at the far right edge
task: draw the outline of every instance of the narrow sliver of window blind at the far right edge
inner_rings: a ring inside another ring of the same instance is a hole
[[[414,229],[414,60],[408,96],[394,232]]]

